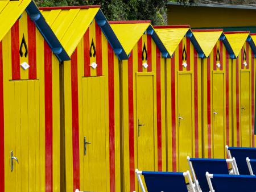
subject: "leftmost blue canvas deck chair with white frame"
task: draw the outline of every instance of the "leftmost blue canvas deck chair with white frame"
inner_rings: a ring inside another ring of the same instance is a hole
[[[141,186],[142,192],[146,192],[142,182],[141,175],[144,177],[146,183],[146,189],[148,192],[183,192],[188,191],[185,177],[188,178],[191,191],[195,192],[195,186],[193,186],[192,178],[189,171],[184,173],[175,172],[143,172],[138,169],[135,170],[136,176]]]

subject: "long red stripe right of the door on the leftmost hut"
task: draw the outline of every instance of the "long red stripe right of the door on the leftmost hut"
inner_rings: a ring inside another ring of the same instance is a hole
[[[46,126],[46,192],[52,192],[52,51],[44,41],[44,105]]]

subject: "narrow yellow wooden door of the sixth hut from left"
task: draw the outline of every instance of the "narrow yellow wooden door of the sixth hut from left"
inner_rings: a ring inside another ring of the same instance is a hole
[[[250,72],[241,70],[241,147],[250,147]]]

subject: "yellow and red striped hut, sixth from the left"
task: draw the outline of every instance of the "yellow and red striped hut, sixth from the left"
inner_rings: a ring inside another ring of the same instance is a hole
[[[249,31],[225,32],[233,50],[233,146],[254,147],[255,44]]]

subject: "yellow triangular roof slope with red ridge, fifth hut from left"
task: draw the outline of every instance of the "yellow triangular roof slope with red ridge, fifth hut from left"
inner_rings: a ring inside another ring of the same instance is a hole
[[[197,42],[204,52],[205,57],[210,55],[223,30],[192,30]]]

